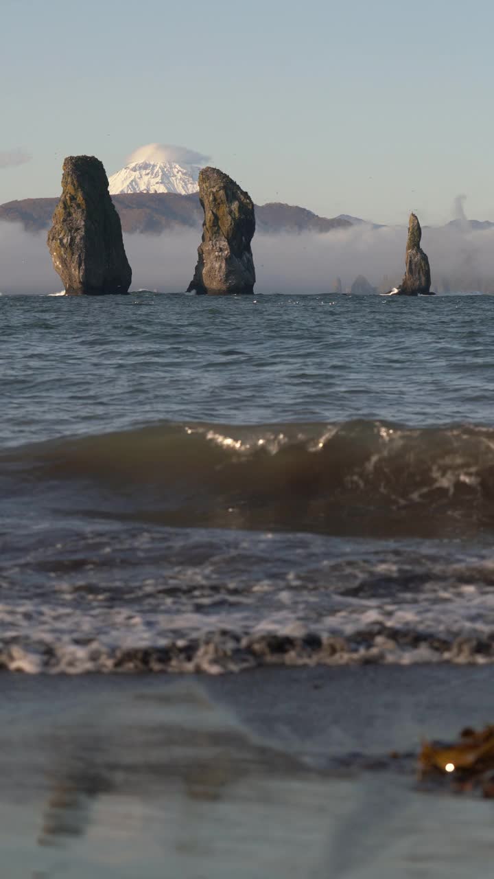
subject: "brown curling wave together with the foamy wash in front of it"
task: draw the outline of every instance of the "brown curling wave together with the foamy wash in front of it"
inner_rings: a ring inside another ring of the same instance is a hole
[[[494,429],[158,424],[0,491],[0,669],[494,663]]]

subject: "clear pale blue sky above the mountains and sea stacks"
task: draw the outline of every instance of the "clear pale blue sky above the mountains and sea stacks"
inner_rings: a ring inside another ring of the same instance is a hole
[[[2,0],[0,202],[165,142],[258,202],[494,220],[493,33],[491,0]]]

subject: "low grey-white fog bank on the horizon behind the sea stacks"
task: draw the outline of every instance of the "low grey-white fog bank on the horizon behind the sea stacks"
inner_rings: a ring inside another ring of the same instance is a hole
[[[47,233],[25,232],[18,223],[0,222],[0,291],[47,294],[61,289],[47,251]],[[124,236],[133,269],[132,289],[184,291],[193,277],[200,243],[197,229],[162,236]],[[355,226],[324,235],[257,235],[252,249],[258,293],[332,293],[337,278],[349,291],[358,275],[385,292],[404,270],[406,229]],[[494,229],[424,229],[422,244],[432,267],[432,289],[439,293],[494,293]]]

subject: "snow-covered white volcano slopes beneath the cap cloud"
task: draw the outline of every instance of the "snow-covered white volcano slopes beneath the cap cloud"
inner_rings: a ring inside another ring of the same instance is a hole
[[[108,180],[111,195],[118,193],[197,193],[200,165],[177,162],[133,162]]]

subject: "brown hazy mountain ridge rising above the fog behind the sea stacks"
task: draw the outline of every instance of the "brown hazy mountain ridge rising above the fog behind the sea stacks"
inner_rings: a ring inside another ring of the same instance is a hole
[[[177,193],[126,193],[112,196],[124,232],[159,235],[175,227],[200,228],[202,208],[199,195]],[[29,232],[48,229],[58,199],[23,199],[0,205],[0,221],[20,222]],[[320,217],[305,207],[274,201],[256,205],[260,232],[329,232],[349,229],[352,222],[343,217]]]

